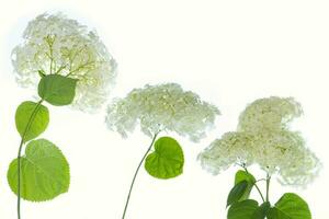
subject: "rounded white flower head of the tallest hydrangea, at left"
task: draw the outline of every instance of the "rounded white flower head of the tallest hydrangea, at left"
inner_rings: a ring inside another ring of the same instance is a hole
[[[72,106],[94,111],[106,101],[116,77],[116,62],[94,31],[61,13],[31,21],[24,42],[12,51],[16,81],[35,88],[39,74],[78,79]]]

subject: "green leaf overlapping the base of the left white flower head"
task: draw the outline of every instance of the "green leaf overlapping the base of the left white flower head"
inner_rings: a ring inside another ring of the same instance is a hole
[[[55,106],[72,103],[76,95],[77,80],[59,74],[48,74],[38,84],[38,95]]]

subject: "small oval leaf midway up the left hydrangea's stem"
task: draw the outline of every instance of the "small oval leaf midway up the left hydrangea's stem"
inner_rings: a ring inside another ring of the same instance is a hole
[[[37,108],[36,108],[37,107]],[[29,125],[29,122],[30,126]],[[24,141],[32,140],[44,132],[49,124],[49,111],[44,105],[26,101],[19,105],[15,113],[15,125]],[[25,132],[25,129],[27,130]]]

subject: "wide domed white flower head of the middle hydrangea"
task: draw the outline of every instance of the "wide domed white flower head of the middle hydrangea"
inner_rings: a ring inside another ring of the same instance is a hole
[[[160,130],[175,131],[193,141],[205,137],[206,129],[214,126],[219,111],[179,84],[164,83],[134,89],[124,99],[107,107],[106,124],[123,137],[137,125],[148,136]]]

